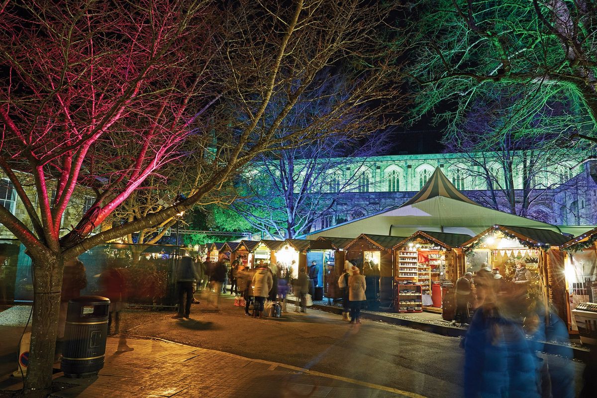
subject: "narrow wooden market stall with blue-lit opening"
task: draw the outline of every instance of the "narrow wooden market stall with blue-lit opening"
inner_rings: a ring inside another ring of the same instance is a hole
[[[311,243],[307,253],[307,263],[315,260],[321,264],[323,296],[328,299],[340,298],[338,278],[344,271],[344,248],[352,242],[346,237],[319,237]]]

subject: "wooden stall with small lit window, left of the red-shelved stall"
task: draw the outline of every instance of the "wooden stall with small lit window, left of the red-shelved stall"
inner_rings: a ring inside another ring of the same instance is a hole
[[[404,236],[361,234],[346,245],[346,260],[354,263],[365,276],[370,307],[393,302],[393,247]]]

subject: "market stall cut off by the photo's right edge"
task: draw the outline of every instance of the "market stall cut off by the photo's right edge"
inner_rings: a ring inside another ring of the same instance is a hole
[[[571,316],[572,332],[580,332],[581,339],[595,340],[597,328],[593,325],[597,314],[594,311],[587,313],[586,308],[578,309],[578,306],[581,303],[597,303],[597,228],[564,243],[562,250],[567,254],[564,264],[568,303],[571,313],[577,315]],[[577,324],[579,320],[580,324]],[[590,323],[589,327],[585,325],[587,322]]]

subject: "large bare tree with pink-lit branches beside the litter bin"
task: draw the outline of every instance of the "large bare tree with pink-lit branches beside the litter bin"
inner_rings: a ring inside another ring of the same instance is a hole
[[[25,381],[32,396],[51,386],[66,261],[164,225],[210,202],[260,153],[325,138],[325,129],[313,127],[396,97],[386,61],[395,54],[372,43],[387,10],[368,2],[297,0],[267,9],[198,0],[3,5],[0,167],[27,217],[0,206],[0,222],[33,261]],[[318,72],[341,62],[359,71],[356,90],[309,128],[281,132],[277,127]],[[281,101],[275,115],[266,112],[271,98]],[[173,181],[188,162],[195,169],[189,196],[91,235],[131,195],[151,187],[150,178]],[[93,190],[96,201],[61,236],[61,216],[80,189]]]

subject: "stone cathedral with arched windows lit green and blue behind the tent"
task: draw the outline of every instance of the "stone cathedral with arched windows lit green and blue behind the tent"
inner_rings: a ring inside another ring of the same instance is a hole
[[[313,224],[311,231],[401,205],[424,186],[436,167],[470,199],[486,207],[511,212],[512,206],[501,190],[507,185],[504,168],[491,158],[485,153],[396,155],[355,160],[358,166],[347,164],[336,171],[341,174],[340,178],[354,180],[353,189],[338,195],[333,191],[334,186],[340,184],[329,184],[330,195],[336,197],[334,207]],[[556,225],[597,224],[594,211],[597,208],[597,160],[567,156],[565,161],[553,162],[552,166],[536,168],[531,173],[525,170],[524,155],[519,154],[517,158],[520,161],[512,167],[516,214]],[[524,214],[523,206],[526,206]]]

